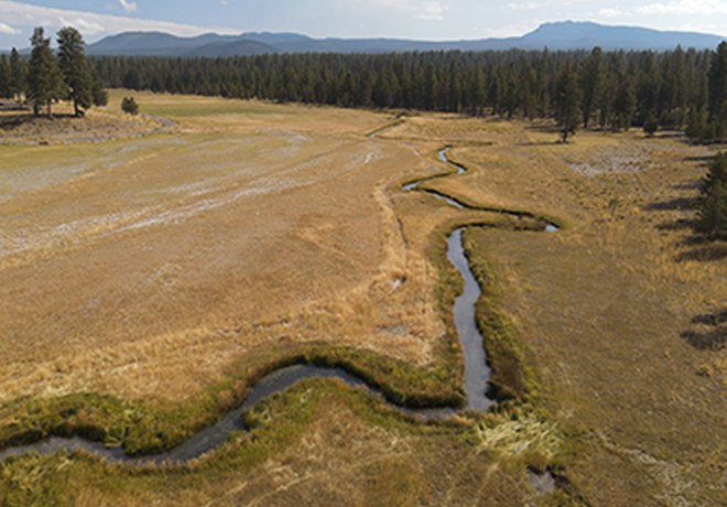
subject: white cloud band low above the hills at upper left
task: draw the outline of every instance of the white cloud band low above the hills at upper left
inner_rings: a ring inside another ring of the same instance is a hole
[[[208,32],[223,34],[237,34],[240,31],[219,26],[196,26],[191,24],[170,23],[166,21],[142,20],[123,18],[120,15],[96,14],[93,12],[73,11],[67,9],[51,9],[31,6],[15,1],[0,0],[0,12],[3,22],[0,23],[0,33],[18,35],[17,28],[30,29],[44,26],[56,30],[61,26],[72,25],[88,36],[106,35],[126,31],[160,31],[182,36],[200,35]],[[6,24],[11,23],[12,25]]]

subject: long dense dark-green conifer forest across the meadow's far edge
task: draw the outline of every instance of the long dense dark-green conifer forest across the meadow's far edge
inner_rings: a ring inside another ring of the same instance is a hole
[[[715,52],[425,52],[99,57],[111,87],[343,107],[555,118],[576,127],[727,132],[727,43]],[[567,133],[566,133],[567,137]]]

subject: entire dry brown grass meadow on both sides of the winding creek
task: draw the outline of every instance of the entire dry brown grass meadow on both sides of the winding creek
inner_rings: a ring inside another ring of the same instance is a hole
[[[727,248],[688,227],[714,149],[641,132],[557,144],[546,125],[446,115],[370,139],[393,115],[137,100],[175,125],[109,108],[80,133],[44,122],[0,136],[0,438],[76,393],[186,407],[188,428],[245,389],[219,386],[301,347],[383,362],[377,381],[404,391],[410,369],[441,367],[447,391],[460,373],[445,352],[456,280],[443,242],[465,223],[498,225],[466,234],[491,282],[480,320],[503,315],[536,385],[495,413],[426,425],[306,382],[197,464],[28,456],[0,464],[1,501],[727,504]],[[469,172],[427,186],[564,229],[513,230],[401,191],[448,170],[445,144]],[[115,410],[100,420],[129,420]],[[557,489],[540,494],[529,467],[550,467]]]

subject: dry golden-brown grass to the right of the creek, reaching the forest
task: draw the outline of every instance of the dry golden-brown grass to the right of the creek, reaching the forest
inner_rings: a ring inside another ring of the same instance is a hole
[[[596,505],[723,504],[726,353],[688,335],[727,305],[727,262],[687,225],[709,150],[638,133],[562,145],[518,123],[469,123],[495,145],[454,150],[471,172],[442,185],[568,225],[470,237],[475,260],[495,267],[545,406],[579,435],[569,478]]]

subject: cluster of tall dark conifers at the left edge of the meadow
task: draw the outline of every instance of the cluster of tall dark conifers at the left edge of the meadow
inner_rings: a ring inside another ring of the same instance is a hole
[[[52,105],[70,100],[76,117],[91,106],[108,101],[101,79],[88,64],[84,39],[78,30],[67,26],[57,33],[57,55],[42,28],[31,37],[29,60],[12,48],[10,57],[0,56],[0,98],[26,101],[37,116],[45,108],[53,116]]]

